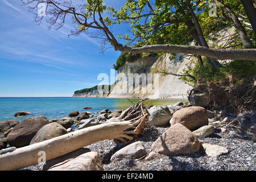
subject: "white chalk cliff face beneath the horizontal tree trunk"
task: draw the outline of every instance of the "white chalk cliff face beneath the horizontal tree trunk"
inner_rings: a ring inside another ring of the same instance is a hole
[[[170,60],[170,54],[164,54],[160,57],[141,58],[133,63],[126,62],[118,69],[118,75],[122,78],[117,78],[117,84],[108,97],[187,98],[187,91],[190,86],[179,80],[179,77],[150,74],[150,69],[154,67],[167,69],[168,72],[179,74],[187,67],[186,64],[191,62],[191,60],[185,59],[182,56],[183,54],[177,54],[174,60]],[[143,80],[146,80],[146,82],[138,81],[139,85],[136,85],[134,80],[132,84],[132,81],[129,80],[129,75],[135,73],[144,77]]]

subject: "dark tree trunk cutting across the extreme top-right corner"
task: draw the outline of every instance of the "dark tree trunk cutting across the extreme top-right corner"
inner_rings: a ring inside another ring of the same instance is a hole
[[[254,34],[256,36],[256,10],[251,0],[241,0],[245,13],[249,18],[251,26],[253,27]]]

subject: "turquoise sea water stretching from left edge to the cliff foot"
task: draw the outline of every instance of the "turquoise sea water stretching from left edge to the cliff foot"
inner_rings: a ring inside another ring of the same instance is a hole
[[[137,102],[139,99],[131,99]],[[18,120],[23,121],[27,117],[44,115],[47,119],[59,119],[68,117],[72,111],[99,112],[103,109],[111,111],[126,109],[131,105],[127,99],[117,98],[82,98],[82,97],[0,97],[0,121]],[[147,105],[171,105],[177,100],[150,100]],[[85,106],[92,109],[85,110]],[[30,115],[14,117],[18,111],[31,112]]]

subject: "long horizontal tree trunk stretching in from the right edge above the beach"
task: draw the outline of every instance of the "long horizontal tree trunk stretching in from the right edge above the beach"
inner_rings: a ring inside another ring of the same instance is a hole
[[[138,48],[115,46],[115,51],[129,53],[166,52],[166,53],[191,53],[212,57],[217,60],[256,61],[256,49],[213,49],[199,46],[177,46],[172,44],[143,46]]]

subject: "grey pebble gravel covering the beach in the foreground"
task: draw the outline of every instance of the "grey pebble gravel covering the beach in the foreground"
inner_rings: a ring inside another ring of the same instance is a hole
[[[169,128],[151,127],[145,129],[143,134],[132,142],[142,141],[146,151],[151,152],[151,144]],[[229,153],[218,157],[210,157],[205,154],[203,147],[199,152],[192,155],[166,156],[159,155],[159,159],[146,161],[142,159],[123,159],[110,163],[111,156],[119,149],[126,146],[123,143],[116,143],[113,140],[86,146],[91,151],[97,151],[101,155],[104,170],[106,171],[254,171],[255,170],[255,140],[251,137],[233,137],[216,129],[213,135],[199,139],[200,143],[218,144],[226,147]],[[22,170],[42,170],[43,165],[30,166]]]

